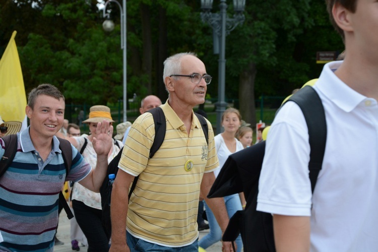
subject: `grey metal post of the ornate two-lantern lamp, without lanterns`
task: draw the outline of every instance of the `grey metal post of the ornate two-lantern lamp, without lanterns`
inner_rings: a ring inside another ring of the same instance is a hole
[[[220,50],[219,50],[219,67],[218,67],[218,103],[217,103],[217,134],[223,132],[222,124],[222,114],[226,110],[227,103],[225,102],[225,82],[226,82],[226,10],[227,4],[226,0],[221,0],[219,4],[220,15],[221,15],[221,34],[220,34]]]

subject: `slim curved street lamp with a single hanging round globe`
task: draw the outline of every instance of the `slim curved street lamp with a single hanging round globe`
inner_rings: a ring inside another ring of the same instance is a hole
[[[102,23],[102,27],[105,31],[112,31],[114,29],[114,23],[109,19],[109,13],[106,13],[106,6],[114,2],[118,5],[121,16],[121,49],[123,49],[123,121],[127,121],[127,111],[126,111],[126,102],[127,102],[127,58],[126,58],[126,0],[122,1],[122,6],[116,0],[106,1],[103,9],[103,17],[106,20]]]

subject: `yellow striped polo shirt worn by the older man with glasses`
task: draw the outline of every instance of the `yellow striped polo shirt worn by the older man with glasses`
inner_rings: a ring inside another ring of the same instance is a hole
[[[168,102],[161,108],[166,118],[166,133],[160,149],[148,159],[155,125],[152,114],[144,113],[132,125],[118,166],[134,176],[140,174],[130,197],[127,230],[152,243],[180,247],[198,238],[202,177],[219,164],[209,121],[208,145],[202,125],[193,112],[188,136],[184,123]],[[184,168],[188,160],[193,161],[190,171]]]

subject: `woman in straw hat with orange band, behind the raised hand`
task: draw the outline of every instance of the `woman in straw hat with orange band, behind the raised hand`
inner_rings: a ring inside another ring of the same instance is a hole
[[[90,108],[89,118],[83,123],[89,125],[91,134],[89,136],[71,137],[68,139],[78,151],[80,151],[84,159],[95,167],[97,161],[96,152],[93,149],[92,139],[96,137],[97,122],[103,119],[114,122],[111,118],[110,108],[103,105],[96,105]],[[118,145],[113,142],[113,146],[108,155],[108,162],[110,162],[122,148],[122,142]],[[83,151],[82,148],[86,144]],[[88,240],[88,251],[107,251],[109,249],[110,235],[102,227],[101,224],[101,196],[99,193],[89,191],[87,188],[79,183],[75,183],[72,189],[72,206],[74,209],[76,220],[83,230],[83,233]]]

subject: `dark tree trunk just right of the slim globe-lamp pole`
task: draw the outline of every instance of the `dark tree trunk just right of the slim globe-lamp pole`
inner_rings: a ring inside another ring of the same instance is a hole
[[[152,75],[152,39],[151,39],[151,20],[150,7],[141,4],[142,17],[142,38],[143,38],[143,61],[142,71],[146,75],[145,81],[142,83],[147,88],[147,94],[152,94],[151,75]]]

